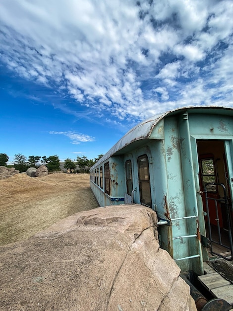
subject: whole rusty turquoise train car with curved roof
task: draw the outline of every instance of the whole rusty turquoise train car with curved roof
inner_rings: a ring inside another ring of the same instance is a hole
[[[233,260],[233,109],[183,107],[128,131],[90,169],[100,206],[137,203],[158,216],[160,245],[181,272]]]

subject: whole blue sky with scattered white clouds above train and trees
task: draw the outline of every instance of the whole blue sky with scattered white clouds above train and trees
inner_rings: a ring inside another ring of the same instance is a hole
[[[151,115],[233,107],[232,16],[232,0],[1,0],[0,153],[91,159]]]

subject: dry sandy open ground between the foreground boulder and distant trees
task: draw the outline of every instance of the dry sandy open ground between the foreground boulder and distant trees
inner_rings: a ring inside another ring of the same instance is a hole
[[[0,245],[24,240],[58,220],[98,207],[89,174],[16,174],[0,180]]]

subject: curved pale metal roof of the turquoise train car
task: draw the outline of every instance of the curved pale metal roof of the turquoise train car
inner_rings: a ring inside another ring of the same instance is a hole
[[[119,150],[128,146],[130,143],[142,139],[148,139],[154,127],[159,123],[160,120],[162,120],[167,115],[174,115],[177,113],[181,113],[182,111],[203,113],[206,110],[208,110],[208,114],[221,114],[221,113],[223,114],[224,112],[224,114],[233,115],[233,108],[221,106],[189,106],[189,107],[176,108],[174,110],[154,115],[142,121],[141,123],[133,127],[131,130],[129,130],[104,156],[102,156],[102,158],[98,162],[96,162],[91,167],[91,169],[98,166],[101,162],[105,161],[110,156],[115,155]],[[221,110],[221,113],[219,112],[219,110]]]

